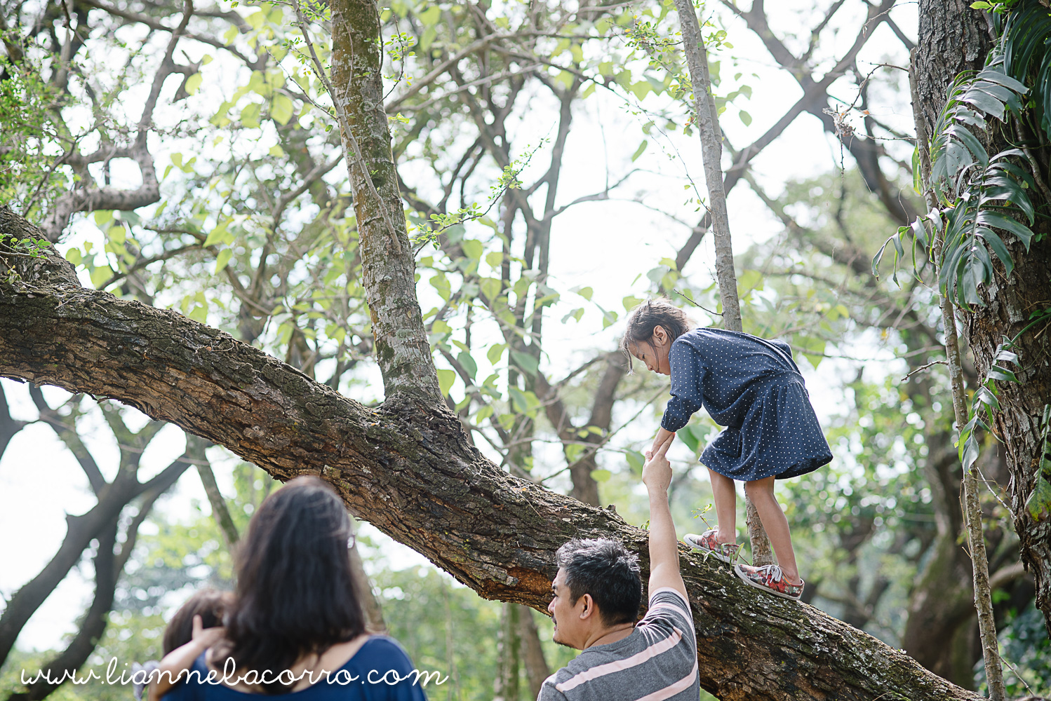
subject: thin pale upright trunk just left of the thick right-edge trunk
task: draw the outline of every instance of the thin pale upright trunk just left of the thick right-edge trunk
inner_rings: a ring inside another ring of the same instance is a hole
[[[920,104],[916,90],[915,50],[909,66],[909,86],[914,106]],[[927,206],[934,209],[936,200],[930,190],[930,149],[926,124],[919,110],[913,108],[916,127],[916,144],[920,149],[920,168]],[[937,279],[939,261],[942,260],[942,231],[934,233],[933,263]],[[949,383],[952,387],[952,412],[956,420],[956,436],[967,425],[967,394],[964,389],[964,371],[960,361],[960,340],[956,336],[956,319],[952,300],[948,295],[940,295],[942,324],[945,328],[945,355],[949,363]],[[967,529],[967,544],[971,555],[971,570],[974,576],[974,609],[978,614],[978,635],[982,639],[982,657],[985,661],[986,681],[991,701],[1004,701],[1004,671],[996,640],[996,621],[992,614],[992,592],[989,590],[989,558],[986,555],[985,532],[982,528],[982,505],[978,502],[977,468],[972,465],[964,472],[964,527]]]

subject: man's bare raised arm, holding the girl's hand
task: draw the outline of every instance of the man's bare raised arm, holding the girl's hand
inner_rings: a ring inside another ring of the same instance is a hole
[[[686,585],[679,573],[679,540],[667,506],[667,488],[672,484],[672,465],[665,453],[668,441],[657,452],[646,452],[642,467],[642,483],[650,492],[650,592],[671,587],[686,597]]]

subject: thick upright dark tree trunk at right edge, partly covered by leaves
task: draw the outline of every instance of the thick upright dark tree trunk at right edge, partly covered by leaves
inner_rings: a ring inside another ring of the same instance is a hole
[[[945,105],[953,78],[963,70],[981,68],[991,46],[987,16],[970,9],[967,2],[921,0],[916,109],[928,133]],[[990,153],[1000,150],[997,146]],[[1047,173],[1042,175],[1047,177]],[[1035,190],[1030,191],[1030,197],[1038,209],[1049,204],[1042,201]],[[980,288],[985,304],[962,313],[961,328],[982,377],[994,363],[996,346],[1005,338],[1014,338],[1029,323],[1033,312],[1047,306],[1051,290],[1049,228],[1038,219],[1034,230],[1045,236],[1034,239],[1028,253],[1014,237],[1005,239],[1014,258],[1014,272],[1008,279],[1002,272],[995,275],[989,285]],[[997,382],[1002,409],[996,412],[993,428],[1004,442],[1011,474],[1008,489],[1014,529],[1022,541],[1022,560],[1036,580],[1036,607],[1044,612],[1051,633],[1051,519],[1034,518],[1026,508],[1037,477],[1040,418],[1044,406],[1051,402],[1048,339],[1046,324],[1030,328],[1018,339],[1014,348],[1019,358],[1015,373],[1018,382]]]

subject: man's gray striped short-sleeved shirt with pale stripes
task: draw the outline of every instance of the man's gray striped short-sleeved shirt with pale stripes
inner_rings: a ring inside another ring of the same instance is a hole
[[[665,587],[631,635],[584,650],[544,680],[537,701],[697,701],[700,689],[689,602]]]

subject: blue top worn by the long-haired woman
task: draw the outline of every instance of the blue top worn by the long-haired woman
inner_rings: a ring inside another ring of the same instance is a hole
[[[246,694],[224,686],[222,670],[206,681],[209,670],[204,661],[205,653],[193,661],[190,678],[177,684],[164,695],[163,701],[261,701],[262,699],[283,699],[286,701],[427,701],[421,687],[428,681],[420,670],[419,677],[412,674],[409,656],[393,638],[375,635],[365,641],[354,656],[338,671],[322,676],[312,686],[289,694]],[[194,674],[197,673],[197,674]],[[239,676],[231,673],[231,678]],[[440,681],[442,676],[433,678]]]

